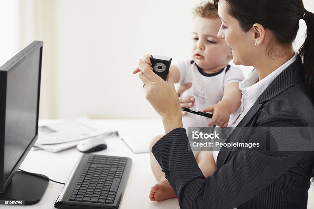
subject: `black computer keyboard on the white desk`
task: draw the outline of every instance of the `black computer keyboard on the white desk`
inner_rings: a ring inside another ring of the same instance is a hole
[[[64,185],[56,208],[119,208],[132,160],[84,154]]]

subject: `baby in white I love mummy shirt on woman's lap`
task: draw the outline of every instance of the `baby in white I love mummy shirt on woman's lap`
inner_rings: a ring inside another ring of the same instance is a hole
[[[192,30],[192,60],[183,59],[174,62],[170,73],[175,83],[180,85],[192,83],[192,87],[184,91],[181,97],[193,96],[195,110],[212,112],[209,119],[188,113],[182,118],[183,127],[205,127],[213,124],[227,127],[230,115],[235,113],[241,104],[239,82],[244,77],[239,68],[228,65],[232,59],[231,48],[224,39],[217,37],[221,20],[218,10],[212,2],[201,3],[194,12]],[[150,56],[144,57],[151,65]],[[139,72],[139,69],[133,73]],[[150,149],[163,135],[156,136],[150,143]],[[217,169],[213,155],[209,151],[193,151],[198,166],[205,177],[213,174]],[[162,201],[176,197],[160,165],[150,153],[151,167],[157,184],[151,188],[151,201]]]

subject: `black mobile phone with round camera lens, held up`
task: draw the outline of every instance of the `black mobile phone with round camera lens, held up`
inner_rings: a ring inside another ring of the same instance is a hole
[[[166,81],[167,75],[170,69],[171,57],[165,57],[160,55],[151,55],[150,61],[153,72]]]

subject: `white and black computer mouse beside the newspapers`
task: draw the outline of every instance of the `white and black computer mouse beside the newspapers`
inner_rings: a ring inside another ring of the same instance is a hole
[[[90,153],[107,149],[107,144],[102,138],[89,138],[79,143],[76,148],[80,152]]]

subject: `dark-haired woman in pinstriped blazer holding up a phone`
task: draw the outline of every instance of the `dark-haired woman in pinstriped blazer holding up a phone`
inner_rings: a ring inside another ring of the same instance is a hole
[[[314,127],[314,14],[301,0],[215,4],[222,20],[218,36],[232,48],[234,63],[256,68],[239,84],[243,107],[236,127]],[[299,55],[292,42],[300,18],[307,37]],[[138,64],[146,99],[166,133],[152,153],[181,208],[306,208],[314,152],[219,152],[217,170],[205,179],[187,152],[172,76],[165,82],[145,62]]]

